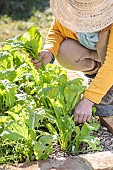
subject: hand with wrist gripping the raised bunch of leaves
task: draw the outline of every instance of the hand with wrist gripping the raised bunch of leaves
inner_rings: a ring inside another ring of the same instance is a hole
[[[41,59],[43,61],[43,63],[46,65],[51,61],[52,53],[49,50],[42,50],[40,52],[38,58]],[[36,60],[31,59],[31,62],[34,64],[36,69],[40,68],[41,62],[38,59],[36,59]]]

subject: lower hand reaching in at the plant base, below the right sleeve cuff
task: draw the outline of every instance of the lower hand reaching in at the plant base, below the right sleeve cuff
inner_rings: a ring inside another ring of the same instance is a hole
[[[74,111],[74,119],[78,123],[88,122],[92,117],[93,102],[85,97],[78,103]]]

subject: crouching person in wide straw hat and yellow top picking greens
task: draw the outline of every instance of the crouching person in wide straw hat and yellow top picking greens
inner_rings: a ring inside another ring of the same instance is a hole
[[[96,74],[74,111],[77,122],[86,122],[94,103],[97,109],[113,107],[113,0],[50,0],[50,4],[55,19],[39,58],[47,64],[54,55],[67,69]],[[32,62],[40,67],[38,60]]]

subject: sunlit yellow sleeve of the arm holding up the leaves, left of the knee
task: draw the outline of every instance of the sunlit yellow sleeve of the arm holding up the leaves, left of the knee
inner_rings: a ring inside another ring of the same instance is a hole
[[[44,49],[51,51],[54,56],[57,56],[60,44],[65,39],[65,37],[61,34],[59,30],[57,22],[58,21],[54,19],[49,33],[46,37],[46,44],[44,46]]]

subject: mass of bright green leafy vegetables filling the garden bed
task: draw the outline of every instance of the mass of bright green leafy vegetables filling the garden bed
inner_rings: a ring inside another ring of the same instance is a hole
[[[38,58],[41,48],[41,35],[33,26],[0,49],[0,163],[47,159],[54,144],[67,152],[75,146],[74,154],[82,142],[98,149],[99,139],[91,133],[99,124],[81,128],[73,120],[86,88],[83,80],[69,80],[54,64],[42,63],[37,71],[29,56]]]

